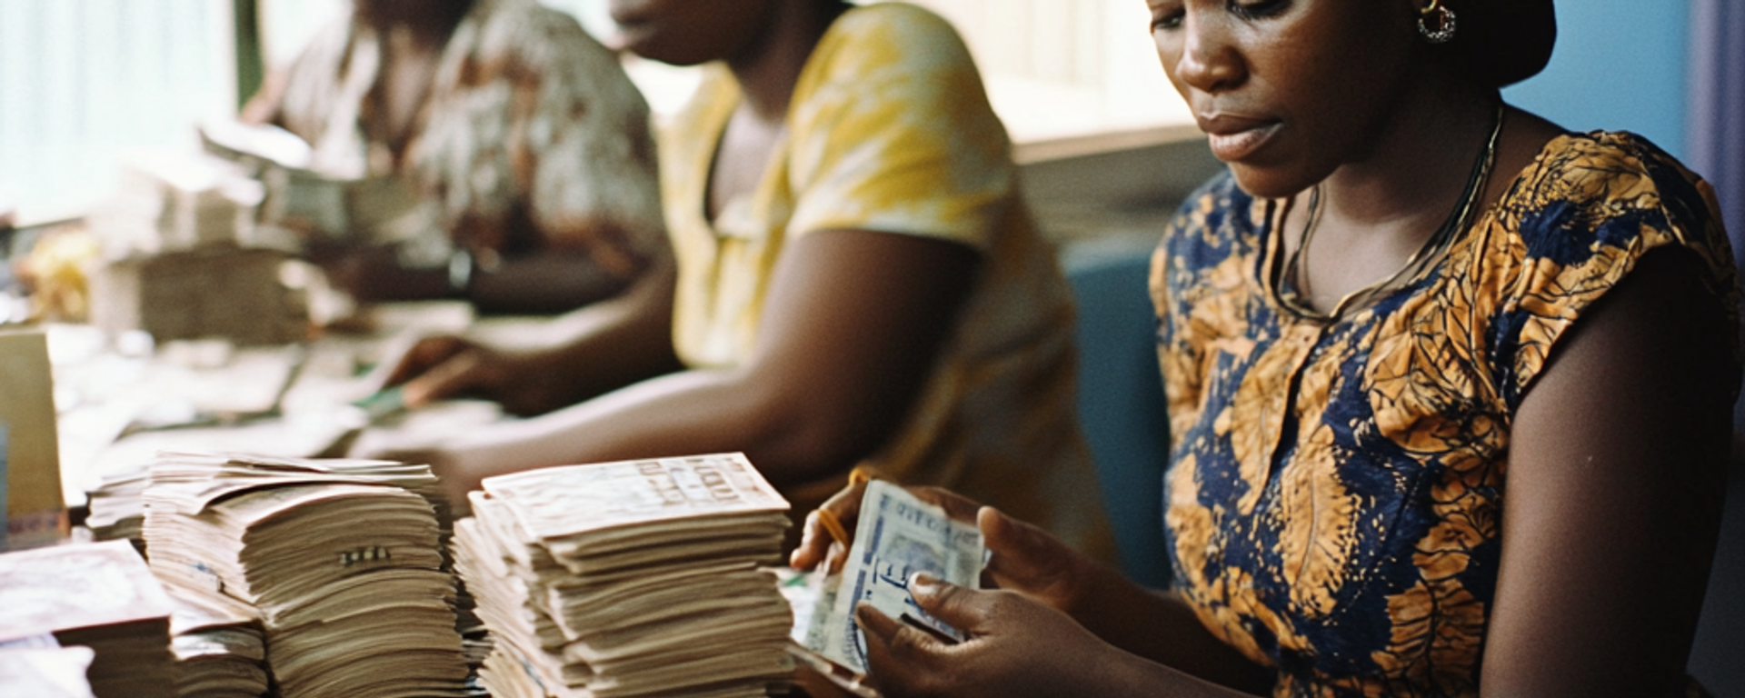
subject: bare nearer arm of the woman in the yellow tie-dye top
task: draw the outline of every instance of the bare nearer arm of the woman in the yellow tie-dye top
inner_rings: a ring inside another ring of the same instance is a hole
[[[906,415],[977,263],[974,250],[937,239],[808,234],[777,263],[745,365],[642,380],[412,454],[428,455],[455,497],[499,473],[722,450],[743,450],[777,485],[846,471]],[[407,448],[365,443],[361,452]]]

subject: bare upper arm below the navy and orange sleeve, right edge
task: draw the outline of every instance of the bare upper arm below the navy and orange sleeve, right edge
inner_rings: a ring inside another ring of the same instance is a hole
[[[1728,333],[1700,262],[1651,253],[1515,421],[1487,696],[1675,696],[1714,557]]]

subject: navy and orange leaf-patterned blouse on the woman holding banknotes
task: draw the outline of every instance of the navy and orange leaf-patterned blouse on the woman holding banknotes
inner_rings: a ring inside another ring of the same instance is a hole
[[[1649,250],[1694,251],[1735,312],[1714,192],[1639,136],[1560,136],[1337,321],[1279,302],[1277,208],[1225,174],[1153,257],[1176,588],[1276,696],[1473,696],[1515,410]]]

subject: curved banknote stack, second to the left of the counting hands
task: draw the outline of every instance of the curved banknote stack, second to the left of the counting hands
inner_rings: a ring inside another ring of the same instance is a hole
[[[284,698],[466,696],[454,576],[428,466],[162,454],[145,490],[152,571],[241,602]]]

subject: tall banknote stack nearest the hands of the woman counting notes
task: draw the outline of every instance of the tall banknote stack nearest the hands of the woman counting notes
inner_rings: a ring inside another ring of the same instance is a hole
[[[497,698],[763,696],[792,670],[787,501],[742,454],[487,478],[455,565]]]

